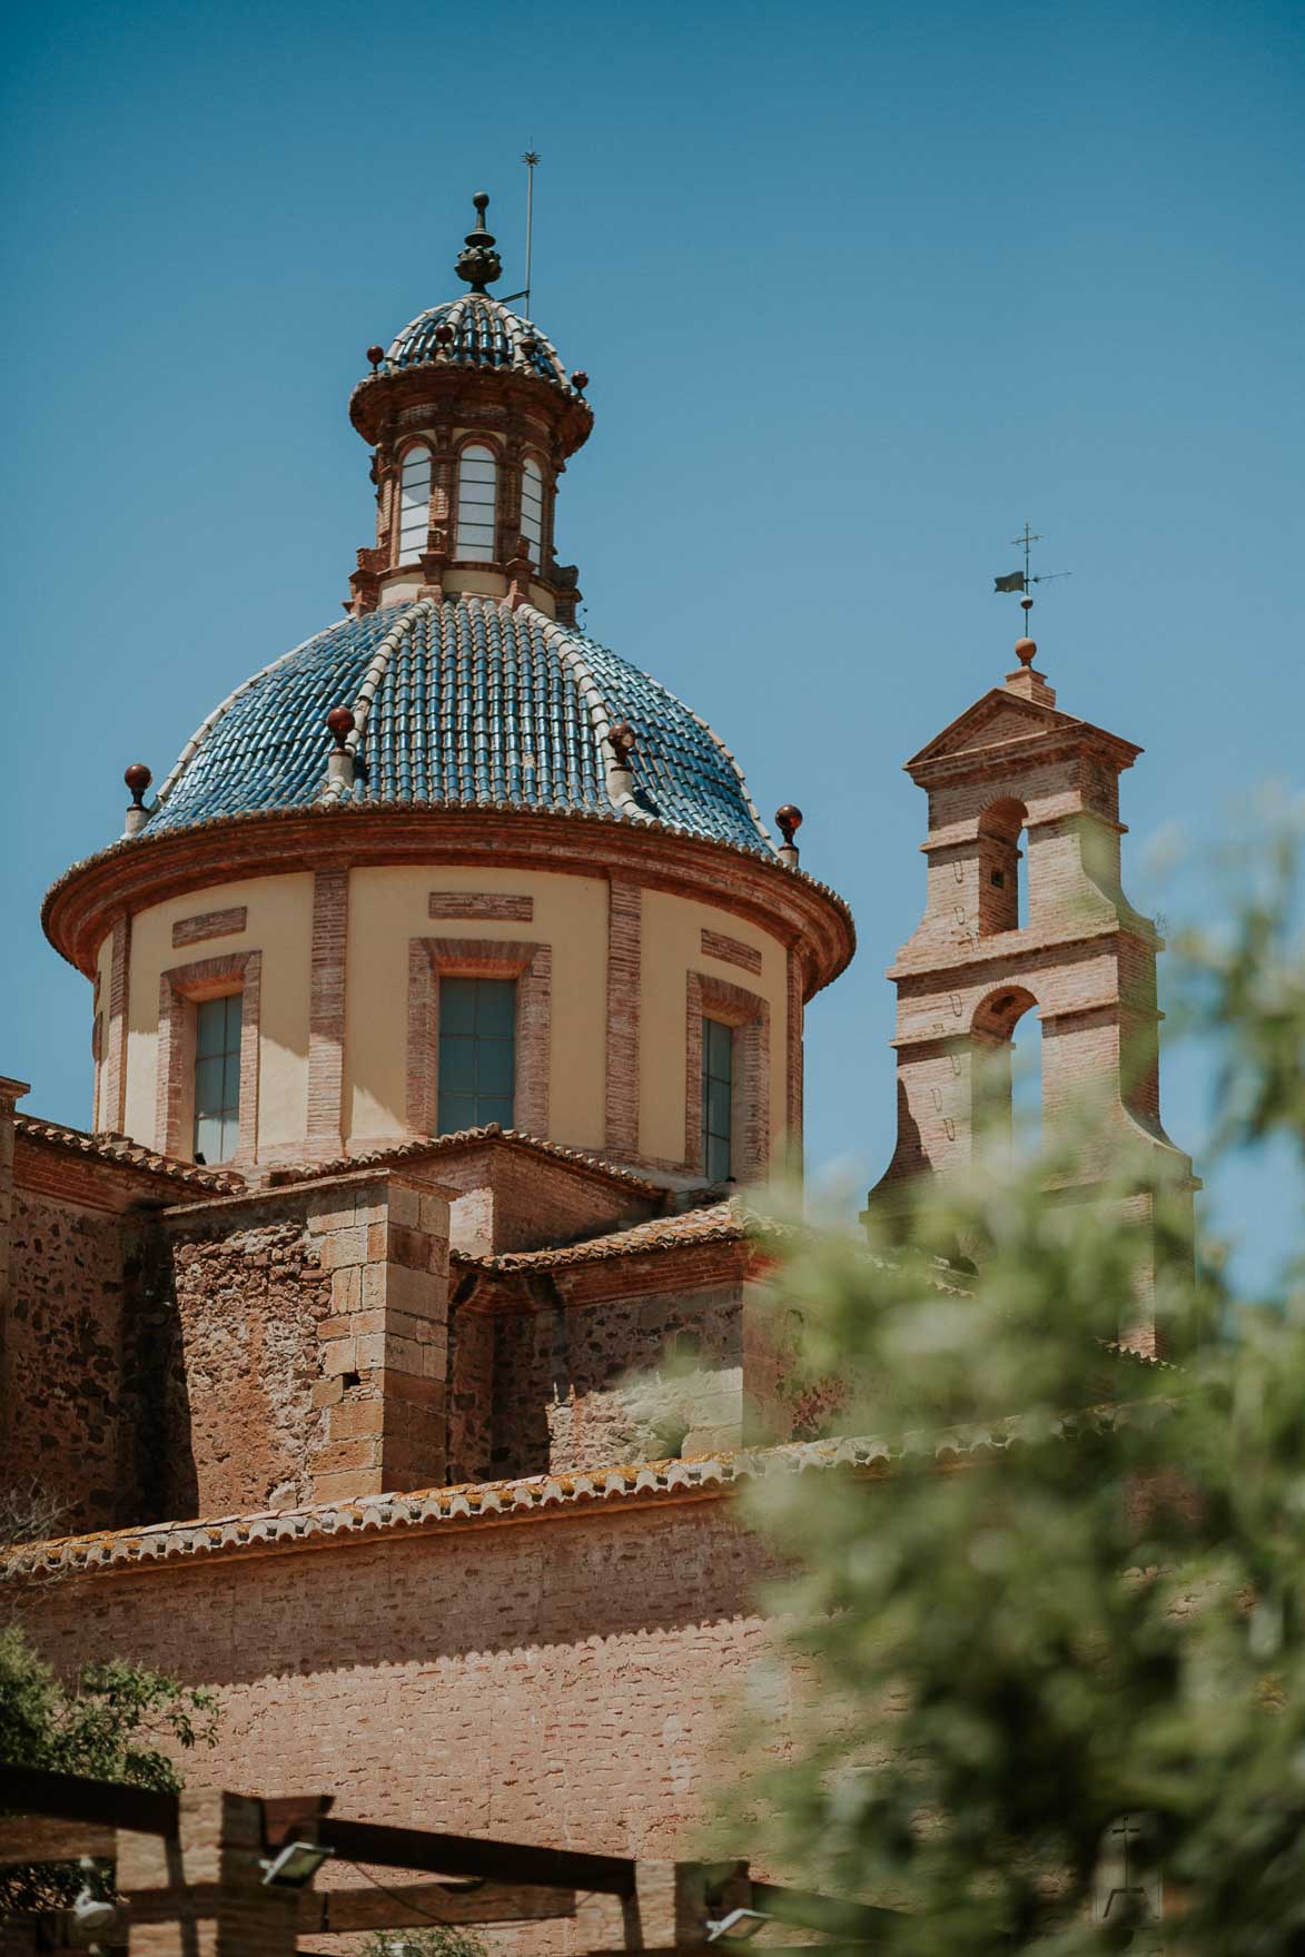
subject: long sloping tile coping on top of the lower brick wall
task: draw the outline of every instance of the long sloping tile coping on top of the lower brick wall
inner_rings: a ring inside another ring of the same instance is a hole
[[[771,1448],[722,1448],[695,1460],[659,1460],[610,1468],[562,1470],[517,1481],[468,1481],[413,1493],[360,1495],[354,1501],[311,1503],[301,1509],[252,1515],[202,1517],[192,1523],[141,1523],[133,1528],[16,1544],[0,1554],[0,1579],[117,1571],[131,1566],[168,1564],[192,1556],[276,1554],[311,1548],[321,1540],[378,1538],[401,1530],[458,1528],[475,1523],[511,1523],[610,1507],[646,1507],[728,1495],[740,1481],[775,1474],[851,1470],[890,1474],[904,1462],[929,1456],[937,1468],[992,1458],[1049,1436],[1072,1440],[1084,1429],[1109,1433],[1121,1419],[1109,1405],[1078,1413],[1029,1419],[1012,1415],[974,1429],[947,1429],[896,1438],[857,1434],[832,1440],[788,1440]]]

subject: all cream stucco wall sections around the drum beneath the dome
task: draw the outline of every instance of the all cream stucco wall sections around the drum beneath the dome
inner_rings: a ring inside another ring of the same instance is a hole
[[[528,896],[530,922],[430,918],[432,892]],[[172,926],[200,912],[245,908],[243,932],[174,947]],[[178,965],[237,951],[262,953],[258,1121],[260,1159],[293,1157],[307,1139],[309,978],[313,877],[288,873],[217,885],[170,898],[133,920],[125,1127],[157,1133],[158,982]],[[761,957],[761,971],[710,957],[702,932],[720,932]],[[605,877],[485,867],[376,867],[348,879],[342,1131],[352,1151],[407,1133],[409,943],[415,937],[485,937],[552,947],[548,1139],[605,1151],[607,939]],[[110,941],[100,953],[108,1014]],[[642,892],[640,1127],[648,1162],[685,1159],[685,1004],[691,971],[767,1000],[771,1012],[771,1149],[785,1141],[787,953],[761,928],[710,904]],[[305,1151],[307,1153],[307,1151]]]

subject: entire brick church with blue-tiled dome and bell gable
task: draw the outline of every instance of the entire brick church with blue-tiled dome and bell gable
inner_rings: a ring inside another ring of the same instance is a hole
[[[765,1650],[734,1483],[869,1458],[788,1380],[743,1194],[800,1162],[804,1016],[855,933],[800,812],[771,832],[724,738],[579,628],[587,376],[493,297],[473,204],[468,290],[348,403],[344,618],[158,783],[127,767],[123,836],[45,900],[94,1114],[0,1080],[0,1485],[65,1515],[4,1573],[57,1665],[217,1691],[192,1781],[665,1857]],[[1192,1186],[1119,881],[1141,750],[1017,656],[908,763],[927,898],[873,1204],[1010,1121],[1025,1014],[1045,1121],[1103,1117],[1057,1196],[1125,1133]]]

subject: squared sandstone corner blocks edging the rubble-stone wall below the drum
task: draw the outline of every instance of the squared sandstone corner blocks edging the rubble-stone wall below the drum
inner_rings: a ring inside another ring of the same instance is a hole
[[[315,1501],[348,1501],[444,1479],[448,1198],[383,1174],[325,1196],[309,1231],[331,1274],[317,1325],[325,1411],[309,1460]]]

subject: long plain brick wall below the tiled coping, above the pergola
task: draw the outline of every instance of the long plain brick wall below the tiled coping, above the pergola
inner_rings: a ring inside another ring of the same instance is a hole
[[[217,1689],[190,1787],[665,1857],[728,1781],[767,1573],[712,1497],[70,1579],[31,1626],[63,1669],[131,1652]]]

